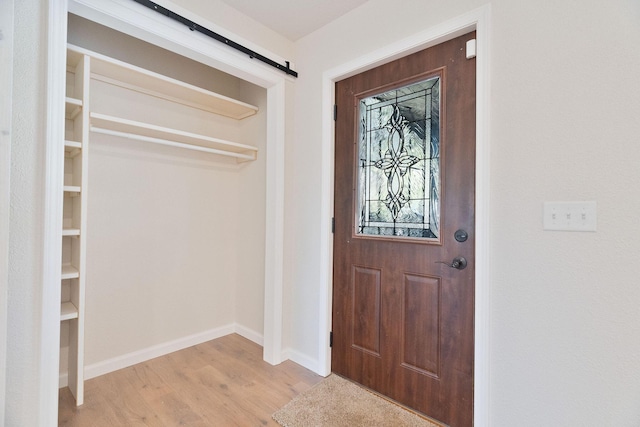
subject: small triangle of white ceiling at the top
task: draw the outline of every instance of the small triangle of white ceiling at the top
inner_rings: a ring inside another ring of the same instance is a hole
[[[367,0],[222,0],[291,41],[328,24]]]

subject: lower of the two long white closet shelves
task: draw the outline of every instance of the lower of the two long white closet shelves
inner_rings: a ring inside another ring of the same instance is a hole
[[[90,117],[90,129],[96,133],[230,156],[238,161],[257,158],[258,149],[250,145],[101,113],[91,113]]]

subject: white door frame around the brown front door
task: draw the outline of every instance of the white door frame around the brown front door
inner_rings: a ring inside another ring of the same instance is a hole
[[[476,31],[476,270],[474,347],[474,425],[489,426],[489,47],[491,6],[485,5],[414,36],[384,46],[362,57],[327,70],[322,78],[322,188],[320,215],[320,283],[318,371],[331,373],[331,330],[333,291],[334,202],[333,105],[335,83],[395,59],[418,52],[470,31]]]

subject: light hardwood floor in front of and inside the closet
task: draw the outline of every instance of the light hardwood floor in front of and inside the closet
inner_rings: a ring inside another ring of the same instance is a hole
[[[271,366],[236,334],[85,383],[84,405],[60,390],[60,426],[277,426],[271,414],[322,377]]]

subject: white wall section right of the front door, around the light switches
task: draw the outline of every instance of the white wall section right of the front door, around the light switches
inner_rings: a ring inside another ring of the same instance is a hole
[[[637,426],[640,3],[494,12],[493,420]],[[597,201],[597,233],[542,231],[545,200]]]

